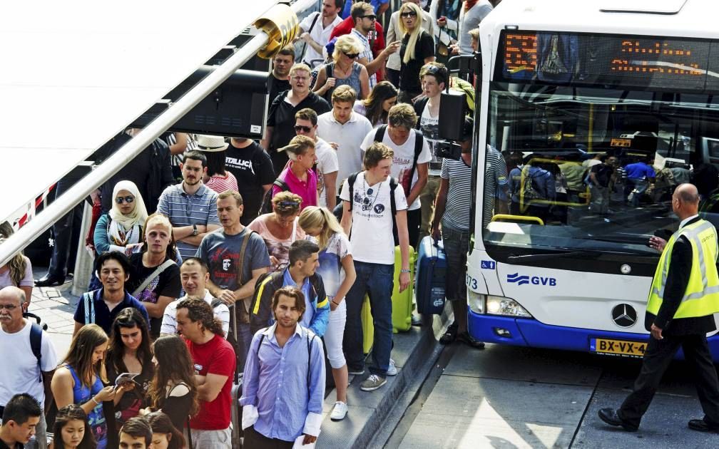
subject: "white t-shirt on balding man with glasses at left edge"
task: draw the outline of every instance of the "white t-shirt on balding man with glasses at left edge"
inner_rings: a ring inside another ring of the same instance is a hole
[[[32,323],[25,320],[25,327],[16,333],[6,333],[0,328],[0,353],[5,361],[0,369],[0,405],[4,406],[17,393],[28,393],[40,404],[45,403],[45,389],[40,382],[40,369],[52,371],[58,366],[55,346],[50,336],[42,332],[40,343],[40,369],[30,346]]]

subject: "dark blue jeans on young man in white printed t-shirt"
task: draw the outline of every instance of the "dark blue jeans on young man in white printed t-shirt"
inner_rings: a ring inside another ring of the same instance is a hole
[[[347,366],[362,369],[365,356],[362,351],[362,303],[365,294],[370,296],[372,322],[375,325],[375,341],[372,345],[370,373],[387,376],[392,351],[392,289],[395,267],[392,264],[369,264],[354,261],[357,280],[347,292],[347,323],[344,325],[342,347]]]

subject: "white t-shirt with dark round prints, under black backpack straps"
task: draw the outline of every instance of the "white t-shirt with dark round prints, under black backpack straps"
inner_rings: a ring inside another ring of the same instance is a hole
[[[395,263],[395,239],[392,233],[392,207],[390,204],[390,180],[367,185],[365,172],[354,180],[352,198],[352,243],[354,260],[370,264]],[[339,198],[349,201],[349,183],[342,185]],[[407,209],[407,198],[401,186],[395,188],[397,210]]]

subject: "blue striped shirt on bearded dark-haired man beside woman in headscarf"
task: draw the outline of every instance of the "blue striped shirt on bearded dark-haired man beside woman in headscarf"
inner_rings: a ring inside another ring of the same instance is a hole
[[[183,189],[183,182],[170,185],[160,195],[160,203],[157,204],[157,212],[170,218],[173,227],[198,225],[218,225],[217,218],[217,193],[200,185],[194,195],[188,195]],[[186,244],[183,241],[177,242],[180,256],[183,259],[193,257],[197,253],[197,246]]]

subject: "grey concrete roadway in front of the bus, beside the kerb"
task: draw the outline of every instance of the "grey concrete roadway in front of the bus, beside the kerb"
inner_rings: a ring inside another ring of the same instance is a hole
[[[672,364],[638,432],[597,417],[618,407],[638,361],[487,345],[457,348],[400,449],[716,448],[719,435],[687,429],[702,417],[689,367]]]

